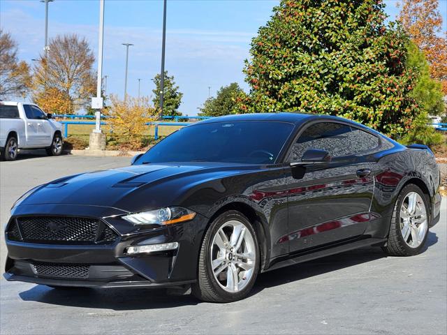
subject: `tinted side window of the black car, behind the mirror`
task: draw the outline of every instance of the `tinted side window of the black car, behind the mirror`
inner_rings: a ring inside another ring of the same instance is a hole
[[[309,149],[328,151],[332,158],[367,154],[379,147],[379,141],[378,137],[345,124],[320,122],[300,135],[288,161],[300,161]]]

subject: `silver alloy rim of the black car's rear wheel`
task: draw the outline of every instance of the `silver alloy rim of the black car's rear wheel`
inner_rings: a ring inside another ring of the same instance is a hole
[[[400,207],[400,230],[405,243],[411,248],[418,248],[427,228],[427,210],[423,198],[419,193],[408,193]]]

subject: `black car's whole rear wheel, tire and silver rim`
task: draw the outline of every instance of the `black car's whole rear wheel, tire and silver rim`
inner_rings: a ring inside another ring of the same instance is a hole
[[[410,202],[416,202],[414,211]],[[391,256],[418,255],[427,241],[429,220],[426,195],[414,184],[404,186],[395,203],[388,241],[383,251]]]

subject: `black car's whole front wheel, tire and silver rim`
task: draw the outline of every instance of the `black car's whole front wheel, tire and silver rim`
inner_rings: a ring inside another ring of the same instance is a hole
[[[241,235],[237,232],[241,232],[242,241],[234,243],[235,237]],[[221,248],[225,242],[228,245]],[[237,244],[240,245],[238,248]],[[205,233],[198,260],[198,281],[192,286],[193,295],[210,302],[230,302],[247,297],[258,276],[260,255],[256,232],[248,219],[239,211],[221,214]],[[212,269],[213,260],[214,266],[221,262],[214,267],[219,272],[217,276]],[[228,277],[231,274],[234,275]],[[228,278],[232,279],[228,281]],[[236,281],[237,284],[232,285]]]

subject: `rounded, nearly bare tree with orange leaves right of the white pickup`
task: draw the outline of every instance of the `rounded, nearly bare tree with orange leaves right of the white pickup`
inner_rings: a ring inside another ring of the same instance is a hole
[[[33,100],[47,111],[75,114],[96,92],[95,57],[87,40],[75,34],[57,36],[49,47],[34,68]]]

